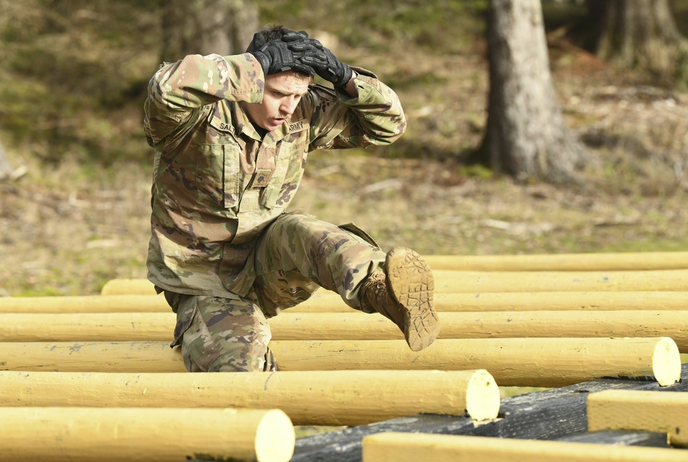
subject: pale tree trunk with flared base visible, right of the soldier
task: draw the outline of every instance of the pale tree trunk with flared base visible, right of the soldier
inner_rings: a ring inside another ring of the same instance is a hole
[[[539,0],[491,0],[490,96],[483,152],[517,181],[575,180],[585,151],[564,124]]]

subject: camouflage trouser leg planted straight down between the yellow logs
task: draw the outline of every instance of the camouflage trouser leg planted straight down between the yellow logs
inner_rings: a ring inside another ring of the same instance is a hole
[[[268,348],[270,326],[252,300],[174,295],[178,312],[175,338],[182,346],[182,359],[188,371],[277,370]]]

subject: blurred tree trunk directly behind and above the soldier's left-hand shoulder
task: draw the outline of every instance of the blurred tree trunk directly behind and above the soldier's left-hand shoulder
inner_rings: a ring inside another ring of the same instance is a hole
[[[162,61],[243,53],[257,30],[258,8],[251,0],[163,1]]]

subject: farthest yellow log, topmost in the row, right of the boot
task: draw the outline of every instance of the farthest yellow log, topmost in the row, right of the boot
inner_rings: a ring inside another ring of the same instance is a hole
[[[688,269],[688,252],[533,255],[426,255],[433,270],[638,271]]]

